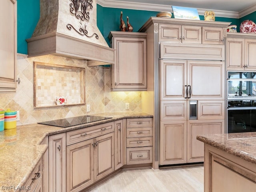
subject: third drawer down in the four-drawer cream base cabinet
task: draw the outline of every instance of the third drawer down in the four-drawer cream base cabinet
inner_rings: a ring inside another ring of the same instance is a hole
[[[147,147],[152,145],[152,137],[126,138],[126,147]]]

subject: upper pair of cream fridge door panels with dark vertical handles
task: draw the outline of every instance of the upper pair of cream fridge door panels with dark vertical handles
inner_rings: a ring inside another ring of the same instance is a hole
[[[224,62],[161,60],[161,100],[224,99]]]

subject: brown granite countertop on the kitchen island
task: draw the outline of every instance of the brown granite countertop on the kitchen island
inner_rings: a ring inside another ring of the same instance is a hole
[[[196,138],[256,164],[256,132],[198,135]]]

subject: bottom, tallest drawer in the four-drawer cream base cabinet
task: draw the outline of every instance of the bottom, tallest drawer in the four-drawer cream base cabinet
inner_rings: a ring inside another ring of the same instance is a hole
[[[127,164],[152,163],[152,147],[127,148]]]

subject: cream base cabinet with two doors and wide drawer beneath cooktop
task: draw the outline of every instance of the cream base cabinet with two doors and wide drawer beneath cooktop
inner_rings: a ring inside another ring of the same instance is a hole
[[[67,191],[83,190],[114,171],[114,122],[67,132],[67,145]]]

